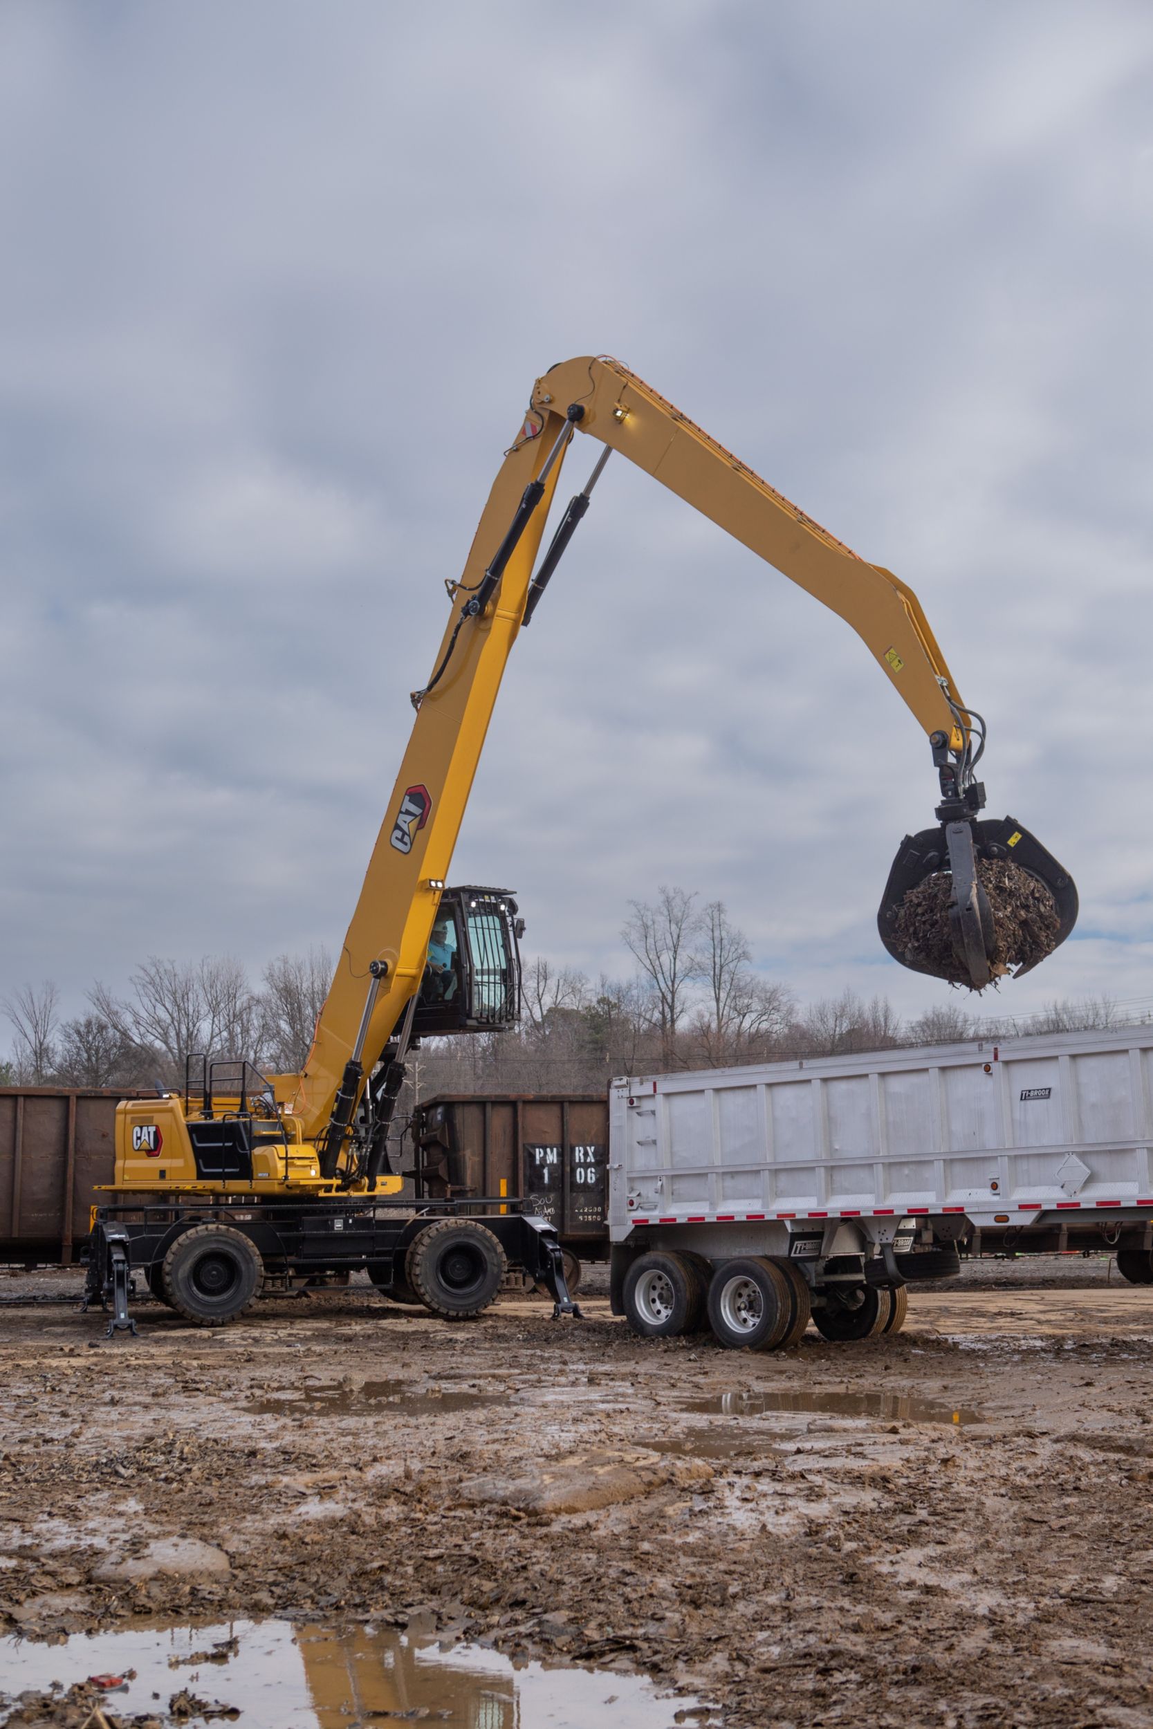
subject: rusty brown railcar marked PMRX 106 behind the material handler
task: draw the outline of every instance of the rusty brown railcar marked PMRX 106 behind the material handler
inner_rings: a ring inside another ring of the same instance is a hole
[[[584,1260],[608,1255],[608,1101],[600,1093],[441,1093],[413,1117],[417,1195],[531,1200]]]

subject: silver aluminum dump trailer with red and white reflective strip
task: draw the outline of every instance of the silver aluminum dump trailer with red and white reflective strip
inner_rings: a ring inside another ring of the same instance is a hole
[[[1148,1025],[614,1081],[614,1307],[669,1333],[707,1300],[723,1343],[776,1349],[806,1304],[826,1337],[894,1330],[959,1247],[1110,1248],[1153,1283],[1151,1148]],[[780,1279],[724,1297],[745,1262]]]

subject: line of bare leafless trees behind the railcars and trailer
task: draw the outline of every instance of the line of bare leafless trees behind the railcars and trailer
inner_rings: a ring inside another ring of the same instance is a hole
[[[410,1100],[600,1093],[617,1074],[842,1056],[1136,1018],[1106,998],[1053,1003],[1030,1017],[973,1015],[961,1001],[942,1001],[908,1020],[887,996],[864,999],[852,989],[800,1005],[788,984],[757,972],[752,944],[723,901],[679,887],[631,901],[621,941],[633,963],[621,977],[593,980],[546,956],[527,960],[519,1029],[425,1041],[410,1058]],[[123,994],[97,982],[85,1011],[69,1018],[61,1015],[55,984],[24,984],[3,998],[12,1055],[0,1063],[0,1079],[173,1088],[183,1084],[192,1051],[249,1056],[268,1074],[296,1072],[330,979],[323,949],[280,954],[259,982],[228,956],[190,963],[152,956]]]

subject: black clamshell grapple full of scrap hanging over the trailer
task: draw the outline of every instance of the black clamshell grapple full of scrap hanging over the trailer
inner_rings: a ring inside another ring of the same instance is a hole
[[[902,967],[980,991],[1006,973],[1020,979],[1065,941],[1077,923],[1077,889],[1068,871],[1015,818],[970,826],[980,897],[992,915],[987,968],[970,967],[965,946],[958,944],[961,922],[946,825],[904,837],[876,927]]]

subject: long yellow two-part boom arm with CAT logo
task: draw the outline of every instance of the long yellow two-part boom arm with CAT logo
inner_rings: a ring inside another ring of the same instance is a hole
[[[358,1034],[368,1072],[420,989],[439,890],[505,662],[526,614],[545,520],[574,429],[621,451],[838,612],[923,730],[944,733],[952,750],[965,745],[952,678],[916,595],[904,583],[859,558],[614,360],[583,358],[553,367],[536,382],[532,406],[496,475],[463,576],[449,584],[453,605],[441,652],[427,693],[413,699],[417,719],[408,750],[308,1062],[299,1075],[275,1077],[277,1098],[297,1117],[304,1139],[328,1126]],[[543,482],[543,491],[526,519],[526,488],[532,482]],[[486,581],[513,520],[522,520],[520,538],[503,572]]]

